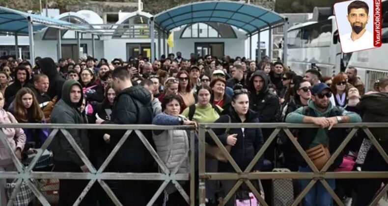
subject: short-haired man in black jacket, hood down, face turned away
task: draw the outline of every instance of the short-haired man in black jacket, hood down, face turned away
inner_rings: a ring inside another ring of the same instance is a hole
[[[133,86],[131,74],[126,67],[113,70],[113,88],[116,98],[113,103],[111,120],[96,120],[97,124],[146,125],[152,124],[153,110],[151,93],[142,86]],[[110,147],[114,148],[125,133],[125,130],[108,130]],[[155,148],[150,130],[141,130],[148,142]],[[114,172],[156,172],[154,159],[145,148],[138,135],[133,131],[123,143],[111,161]],[[155,192],[152,186],[140,180],[120,181],[117,198],[123,205],[146,205]]]

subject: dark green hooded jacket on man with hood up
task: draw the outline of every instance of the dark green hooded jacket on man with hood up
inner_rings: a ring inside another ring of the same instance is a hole
[[[81,88],[81,99],[78,103],[72,103],[70,100],[70,89],[73,85],[79,85]],[[83,101],[83,92],[81,84],[73,79],[67,80],[62,87],[62,99],[55,104],[51,113],[51,123],[53,124],[84,124],[81,112],[78,109]],[[82,149],[86,156],[89,155],[89,140],[86,129],[66,129],[77,145]],[[61,131],[56,133],[53,142],[53,154],[56,161],[74,162],[79,166],[84,165],[74,148],[67,141]]]

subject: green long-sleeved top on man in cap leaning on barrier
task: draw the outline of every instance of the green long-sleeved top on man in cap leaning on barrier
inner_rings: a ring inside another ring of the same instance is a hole
[[[320,112],[320,111],[317,110],[317,108],[315,107],[315,104],[311,100],[308,101],[308,106],[315,111],[315,114],[317,115],[317,117],[328,117],[330,111],[334,107],[332,105],[332,103],[329,102],[329,106],[326,109],[326,111]],[[339,108],[340,113],[342,114],[342,116],[345,116],[345,115],[349,116],[349,119],[350,119],[351,123],[361,122],[361,117],[357,113],[346,111],[342,107],[338,107],[338,108]],[[289,113],[287,115],[286,122],[287,123],[303,123],[304,117],[305,117],[305,115],[303,115],[303,107],[300,107],[297,110],[295,110],[294,112],[291,112],[291,113]],[[325,132],[325,129],[320,128],[320,129],[318,129],[318,132],[317,132],[314,140],[312,141],[312,143],[310,145],[310,148],[314,147],[316,145],[319,145],[319,144],[325,144],[326,145],[327,142],[328,142],[327,133]]]

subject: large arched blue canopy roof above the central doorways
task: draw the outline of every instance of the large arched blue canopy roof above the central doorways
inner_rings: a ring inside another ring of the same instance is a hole
[[[218,22],[253,33],[284,21],[284,16],[261,6],[227,0],[194,2],[155,15],[155,23],[166,31],[187,24]]]

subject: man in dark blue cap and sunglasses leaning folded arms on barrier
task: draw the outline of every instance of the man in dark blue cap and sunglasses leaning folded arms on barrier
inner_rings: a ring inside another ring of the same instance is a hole
[[[311,88],[311,100],[308,101],[308,106],[300,107],[296,111],[290,113],[286,117],[287,123],[312,123],[321,128],[300,129],[298,142],[302,148],[308,151],[321,148],[322,151],[327,151],[333,154],[339,147],[341,142],[346,137],[346,129],[333,128],[338,123],[356,123],[361,122],[361,118],[354,112],[344,110],[342,107],[334,106],[330,102],[332,91],[325,83],[315,84]],[[333,129],[332,129],[333,128]],[[325,152],[323,152],[325,153]],[[330,154],[327,154],[330,157]],[[300,172],[312,172],[311,168],[305,161],[299,161]],[[342,155],[334,160],[331,169],[335,169],[342,162]],[[313,163],[320,170],[321,165],[315,160]],[[335,188],[334,179],[326,179],[332,189]],[[300,180],[301,189],[304,189],[310,180]],[[326,190],[323,184],[318,181],[310,189],[303,200],[304,206],[332,206],[333,199],[330,193]]]

